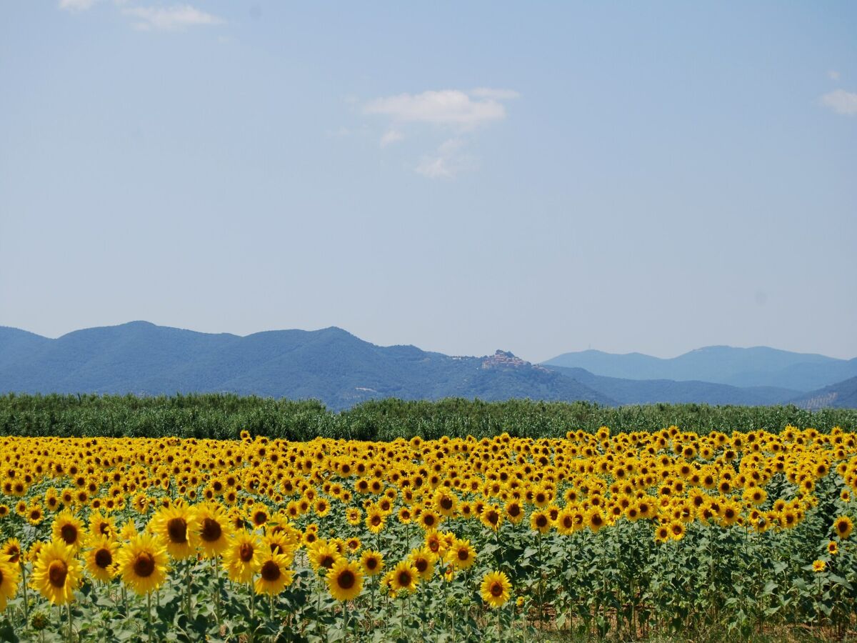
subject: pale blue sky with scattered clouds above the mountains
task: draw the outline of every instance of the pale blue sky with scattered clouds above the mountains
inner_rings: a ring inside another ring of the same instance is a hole
[[[0,325],[857,356],[857,3],[0,2]]]

